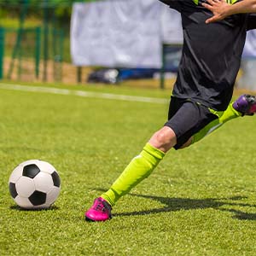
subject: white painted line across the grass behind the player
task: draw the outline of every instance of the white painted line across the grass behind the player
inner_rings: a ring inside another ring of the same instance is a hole
[[[117,95],[117,94],[111,94],[111,93],[90,92],[90,91],[84,91],[84,90],[68,90],[68,89],[58,89],[58,88],[52,88],[52,87],[26,86],[26,85],[20,85],[20,84],[0,83],[0,89],[43,92],[43,93],[58,94],[58,95],[73,95],[73,96],[81,96],[81,97],[88,97],[88,98],[109,99],[109,100],[126,101],[126,102],[149,102],[149,103],[158,103],[158,104],[166,104],[167,102],[169,102],[168,100],[162,99],[162,98],[152,98],[152,97],[143,97],[143,96],[126,96],[126,95]]]

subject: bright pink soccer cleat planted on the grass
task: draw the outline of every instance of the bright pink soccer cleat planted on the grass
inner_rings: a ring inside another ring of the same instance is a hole
[[[85,220],[87,221],[105,221],[111,216],[112,207],[109,205],[108,201],[104,200],[102,197],[96,198],[93,206],[84,213]]]

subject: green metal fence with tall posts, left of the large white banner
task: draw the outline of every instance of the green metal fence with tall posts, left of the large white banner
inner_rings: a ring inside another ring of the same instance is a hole
[[[18,27],[0,26],[0,79],[61,81],[64,29],[55,27],[55,5],[39,2],[44,15],[41,25],[33,27],[25,26],[30,0],[7,5],[10,13],[18,9],[20,18]]]

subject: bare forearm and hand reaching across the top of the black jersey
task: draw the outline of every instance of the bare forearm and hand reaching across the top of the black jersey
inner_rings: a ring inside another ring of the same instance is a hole
[[[206,20],[206,23],[223,20],[227,16],[239,13],[256,13],[256,0],[243,0],[232,5],[226,3],[225,0],[207,0],[207,3],[202,3],[202,5],[213,14],[212,18]]]

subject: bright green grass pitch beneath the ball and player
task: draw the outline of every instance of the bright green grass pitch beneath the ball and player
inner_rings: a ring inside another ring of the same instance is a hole
[[[256,254],[255,117],[171,150],[113,208],[111,221],[86,223],[84,211],[164,124],[168,104],[76,90],[163,99],[170,92],[55,87],[74,93],[6,90],[0,83],[0,255]],[[21,211],[9,195],[10,173],[30,159],[49,161],[61,176],[61,195],[49,210]]]

